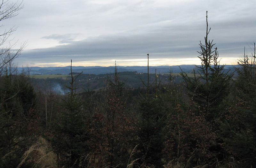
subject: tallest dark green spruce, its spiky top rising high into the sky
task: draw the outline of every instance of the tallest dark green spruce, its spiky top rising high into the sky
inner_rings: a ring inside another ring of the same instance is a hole
[[[201,51],[198,58],[202,61],[201,66],[197,67],[197,73],[194,70],[194,77],[189,77],[187,73],[180,73],[186,83],[188,95],[195,102],[197,114],[205,113],[207,121],[212,121],[220,117],[225,110],[224,101],[230,93],[230,82],[233,73],[224,72],[224,66],[218,61],[219,53],[217,47],[213,48],[215,43],[208,40],[208,15],[206,11],[206,36],[204,43],[200,41]]]

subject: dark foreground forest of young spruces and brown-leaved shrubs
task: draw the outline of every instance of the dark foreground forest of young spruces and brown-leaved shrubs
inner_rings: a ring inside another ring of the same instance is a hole
[[[140,88],[124,87],[117,67],[103,88],[81,86],[72,60],[64,94],[36,88],[29,71],[14,71],[23,47],[3,49],[0,167],[256,167],[255,43],[234,76],[206,23],[192,75],[146,73]]]

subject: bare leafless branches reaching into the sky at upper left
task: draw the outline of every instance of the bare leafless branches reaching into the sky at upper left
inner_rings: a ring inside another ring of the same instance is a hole
[[[0,21],[17,16],[22,8],[23,1],[12,3],[9,0],[0,0]],[[2,27],[4,25],[0,25],[0,28]],[[18,49],[14,49],[17,42],[11,43],[13,39],[10,39],[10,36],[16,29],[17,27],[13,26],[7,30],[0,30],[0,74],[4,66],[18,57],[26,46],[26,42],[24,42]]]

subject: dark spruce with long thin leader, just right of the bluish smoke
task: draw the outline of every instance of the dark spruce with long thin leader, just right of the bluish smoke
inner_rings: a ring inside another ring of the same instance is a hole
[[[63,162],[59,165],[77,167],[81,162],[79,159],[83,158],[88,150],[85,144],[87,129],[82,117],[82,103],[76,93],[76,78],[81,73],[76,76],[72,74],[72,60],[70,69],[71,82],[70,86],[66,86],[69,91],[62,99],[63,112],[53,125],[57,134],[51,140]]]

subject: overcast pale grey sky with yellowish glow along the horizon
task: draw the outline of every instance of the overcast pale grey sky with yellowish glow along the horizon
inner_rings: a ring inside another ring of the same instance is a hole
[[[16,0],[9,0],[10,3]],[[21,2],[19,0],[19,2]],[[16,47],[27,47],[18,66],[200,65],[206,35],[220,64],[234,65],[256,40],[255,0],[23,0],[19,15],[2,20],[0,32],[17,27]]]

